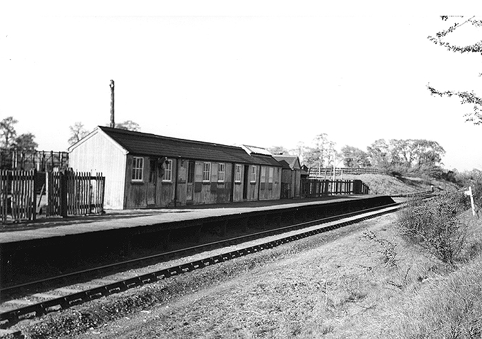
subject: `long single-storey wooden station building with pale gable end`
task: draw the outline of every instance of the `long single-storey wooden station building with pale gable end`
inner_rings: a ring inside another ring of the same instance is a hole
[[[75,171],[105,176],[105,208],[280,199],[281,165],[237,146],[99,126],[69,153]]]

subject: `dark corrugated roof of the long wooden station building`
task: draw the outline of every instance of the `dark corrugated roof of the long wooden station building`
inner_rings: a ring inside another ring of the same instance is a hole
[[[254,157],[237,146],[170,138],[162,135],[127,131],[125,129],[112,129],[103,126],[98,128],[127,149],[129,153],[138,155],[184,157],[192,160],[280,166],[273,158],[271,158],[271,161]]]

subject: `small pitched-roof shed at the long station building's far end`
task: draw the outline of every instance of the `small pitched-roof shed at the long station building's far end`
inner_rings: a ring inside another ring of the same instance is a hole
[[[301,197],[301,165],[296,155],[273,155],[282,165],[282,197]]]

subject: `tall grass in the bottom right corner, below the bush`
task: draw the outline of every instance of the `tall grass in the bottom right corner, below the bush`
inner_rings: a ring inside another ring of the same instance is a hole
[[[391,338],[481,338],[482,258],[428,283],[386,318]]]

